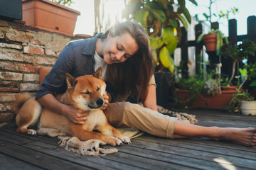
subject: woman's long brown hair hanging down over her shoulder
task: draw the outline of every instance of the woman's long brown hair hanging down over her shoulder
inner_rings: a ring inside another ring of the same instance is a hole
[[[113,37],[122,35],[122,33],[129,33],[137,42],[139,50],[125,62],[108,65],[107,81],[112,84],[117,94],[125,96],[135,91],[137,92],[137,101],[145,101],[149,80],[154,72],[154,60],[146,31],[135,21],[125,21],[112,26],[100,38],[107,38],[108,33]]]

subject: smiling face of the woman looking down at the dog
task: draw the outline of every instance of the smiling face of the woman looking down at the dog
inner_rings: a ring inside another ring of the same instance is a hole
[[[107,36],[107,41],[103,47],[103,57],[107,64],[119,63],[132,57],[139,49],[137,42],[129,33],[112,37]]]

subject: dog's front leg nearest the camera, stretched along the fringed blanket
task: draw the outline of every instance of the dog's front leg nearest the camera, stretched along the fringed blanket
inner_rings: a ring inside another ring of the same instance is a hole
[[[93,132],[90,130],[85,130],[82,125],[70,125],[69,134],[73,137],[78,137],[80,140],[102,140],[108,145],[116,146],[121,145],[122,141],[117,137],[107,136],[100,132]]]

